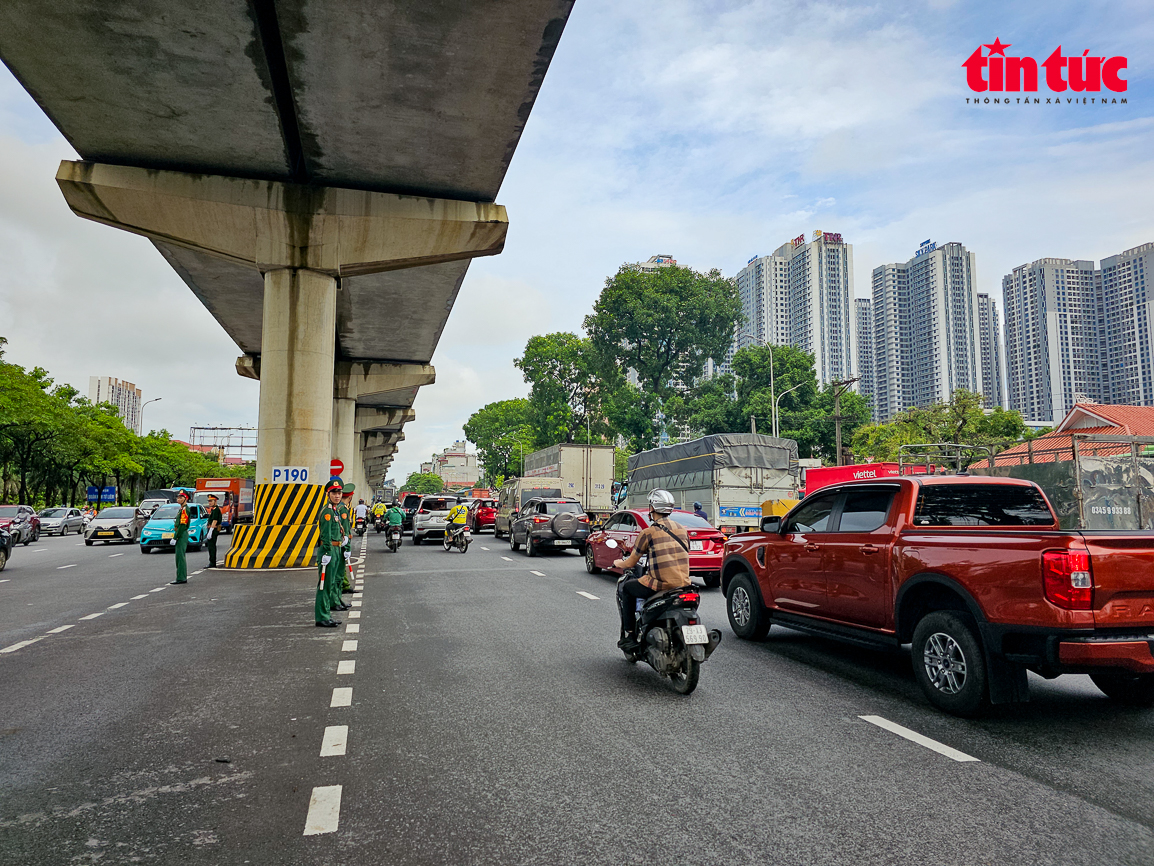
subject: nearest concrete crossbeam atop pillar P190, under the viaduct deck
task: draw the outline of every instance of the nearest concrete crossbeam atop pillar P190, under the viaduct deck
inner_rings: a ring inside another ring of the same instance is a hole
[[[509,219],[487,202],[424,199],[65,160],[77,216],[260,271],[334,277],[496,255]]]

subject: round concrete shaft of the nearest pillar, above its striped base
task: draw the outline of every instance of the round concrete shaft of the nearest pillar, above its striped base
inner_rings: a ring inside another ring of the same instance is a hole
[[[336,334],[336,279],[295,268],[264,275],[257,484],[273,481],[273,466],[328,478]]]

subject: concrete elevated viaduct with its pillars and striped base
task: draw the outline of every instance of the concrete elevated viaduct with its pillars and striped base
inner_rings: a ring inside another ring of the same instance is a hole
[[[257,525],[312,561],[331,457],[379,484],[572,0],[23,0],[0,59],[80,155],[81,217],[149,238],[261,382]],[[277,468],[309,484],[277,484]]]

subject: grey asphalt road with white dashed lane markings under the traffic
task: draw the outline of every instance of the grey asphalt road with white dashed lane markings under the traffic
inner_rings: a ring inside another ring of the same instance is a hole
[[[0,652],[0,864],[1154,861],[1154,710],[1086,678],[956,719],[908,658],[739,641],[709,591],[725,640],[682,696],[576,553],[369,535],[355,568],[364,615],[319,629],[310,573],[18,548],[0,650],[40,640]]]

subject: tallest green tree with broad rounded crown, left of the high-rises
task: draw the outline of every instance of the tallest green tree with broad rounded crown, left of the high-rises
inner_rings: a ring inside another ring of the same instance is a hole
[[[585,331],[604,374],[632,368],[642,390],[664,401],[709,358],[725,356],[741,319],[736,284],[719,270],[624,264],[606,281]]]

